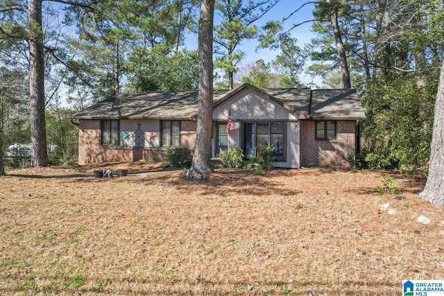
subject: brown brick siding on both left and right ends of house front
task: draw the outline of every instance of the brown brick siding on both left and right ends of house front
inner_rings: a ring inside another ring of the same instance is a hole
[[[301,166],[347,167],[347,155],[355,152],[355,121],[337,121],[336,139],[315,139],[315,121],[300,121]],[[80,121],[78,135],[78,164],[97,162],[133,162],[140,159],[161,161],[162,148],[133,148],[100,145],[100,121]],[[182,121],[180,143],[194,147],[196,121]]]

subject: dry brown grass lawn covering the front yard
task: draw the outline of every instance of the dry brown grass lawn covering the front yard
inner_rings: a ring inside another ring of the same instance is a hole
[[[47,176],[76,173],[62,168],[7,173],[1,295],[401,295],[403,279],[444,275],[443,209],[418,198],[416,177],[325,168],[223,169],[205,183],[184,171],[112,180]],[[377,192],[385,175],[400,193]],[[395,214],[379,209],[386,203]]]

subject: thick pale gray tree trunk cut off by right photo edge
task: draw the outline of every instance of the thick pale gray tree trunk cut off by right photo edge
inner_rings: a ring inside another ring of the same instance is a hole
[[[429,177],[420,198],[429,200],[436,207],[444,207],[444,59],[441,62],[438,94],[429,161]]]

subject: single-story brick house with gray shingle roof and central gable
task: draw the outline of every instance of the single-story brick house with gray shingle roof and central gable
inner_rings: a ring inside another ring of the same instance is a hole
[[[228,113],[232,125],[227,132]],[[78,163],[164,159],[171,146],[194,146],[198,92],[117,94],[71,116],[80,125]],[[212,154],[274,145],[274,166],[348,166],[366,119],[355,89],[214,91]]]

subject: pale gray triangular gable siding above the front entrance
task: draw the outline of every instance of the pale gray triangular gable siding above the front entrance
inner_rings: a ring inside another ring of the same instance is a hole
[[[297,120],[296,116],[278,103],[248,92],[240,92],[228,102],[216,106],[213,120],[226,121],[230,107],[233,121]]]

